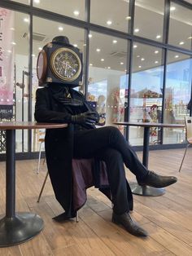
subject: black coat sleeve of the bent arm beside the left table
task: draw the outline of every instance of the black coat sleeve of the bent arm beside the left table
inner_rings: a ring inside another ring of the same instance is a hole
[[[51,110],[49,94],[46,88],[37,89],[34,117],[38,122],[69,123],[72,120],[72,116],[69,113]]]

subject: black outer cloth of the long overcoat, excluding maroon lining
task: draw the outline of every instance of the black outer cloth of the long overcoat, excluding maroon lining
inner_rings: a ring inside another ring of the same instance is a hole
[[[52,87],[53,88],[53,87]],[[88,111],[93,108],[86,102],[84,95],[76,90],[71,90],[72,98],[83,101]],[[46,163],[50,174],[50,180],[55,192],[56,199],[65,210],[68,218],[75,217],[76,212],[72,207],[72,152],[73,152],[73,130],[71,114],[62,108],[53,96],[50,86],[37,89],[35,119],[38,122],[60,122],[68,123],[67,128],[46,130]],[[133,196],[128,188],[129,209],[133,210]],[[100,189],[110,197],[109,188]]]

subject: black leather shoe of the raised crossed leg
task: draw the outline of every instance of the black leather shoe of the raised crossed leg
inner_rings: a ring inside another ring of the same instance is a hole
[[[151,186],[154,188],[164,188],[176,182],[177,178],[174,176],[161,176],[153,171],[149,171],[145,179],[137,179],[137,183],[140,186]]]

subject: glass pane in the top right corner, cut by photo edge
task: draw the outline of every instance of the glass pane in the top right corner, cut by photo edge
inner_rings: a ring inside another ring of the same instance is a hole
[[[191,50],[192,10],[172,2],[170,7],[168,43]],[[177,31],[177,33],[176,33]]]

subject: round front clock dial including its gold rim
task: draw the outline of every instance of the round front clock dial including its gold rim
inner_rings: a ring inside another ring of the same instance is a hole
[[[81,60],[76,52],[62,47],[51,55],[50,67],[56,77],[65,82],[72,82],[81,73]]]

